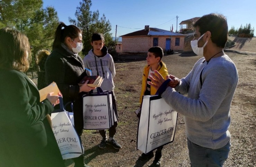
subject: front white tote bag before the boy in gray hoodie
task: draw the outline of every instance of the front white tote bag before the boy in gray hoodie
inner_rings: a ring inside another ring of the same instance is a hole
[[[97,93],[91,92],[83,96],[83,128],[109,129],[111,127],[109,93],[103,92],[101,88],[97,88]]]

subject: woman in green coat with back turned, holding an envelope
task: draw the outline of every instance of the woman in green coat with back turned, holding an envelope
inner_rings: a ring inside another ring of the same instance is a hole
[[[36,85],[25,75],[29,68],[28,38],[0,29],[0,166],[64,167],[46,115],[58,104],[48,94],[40,102]]]

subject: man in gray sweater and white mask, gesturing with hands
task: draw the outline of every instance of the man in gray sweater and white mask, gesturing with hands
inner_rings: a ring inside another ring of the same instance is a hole
[[[182,79],[172,79],[162,98],[184,116],[191,166],[222,166],[230,150],[230,105],[238,72],[224,53],[228,25],[221,14],[207,14],[194,23],[193,51],[199,59]],[[165,80],[157,71],[151,86]],[[184,96],[182,94],[187,94]]]

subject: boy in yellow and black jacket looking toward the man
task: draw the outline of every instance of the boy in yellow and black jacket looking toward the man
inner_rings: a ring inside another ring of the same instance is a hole
[[[154,87],[151,87],[148,82],[151,81],[149,79],[150,73],[154,72],[154,70],[157,70],[161,75],[165,78],[168,75],[167,68],[165,66],[165,63],[161,60],[164,56],[163,49],[161,47],[152,47],[148,49],[147,54],[147,65],[144,67],[144,72],[142,76],[142,85],[141,85],[141,94],[140,94],[140,106],[142,102],[142,97],[144,95],[155,95],[156,89]],[[153,161],[153,165],[160,166],[162,161],[162,149],[163,146],[158,147],[155,154],[155,159]],[[139,159],[140,160],[146,160],[154,157],[153,151],[145,154],[141,154]]]

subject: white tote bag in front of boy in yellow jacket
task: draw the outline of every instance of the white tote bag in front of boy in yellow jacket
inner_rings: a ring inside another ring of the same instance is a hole
[[[143,153],[174,140],[178,114],[160,96],[169,81],[162,84],[157,95],[143,96],[137,132],[137,149]]]

